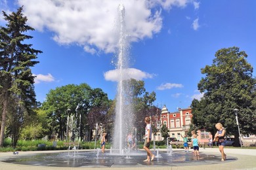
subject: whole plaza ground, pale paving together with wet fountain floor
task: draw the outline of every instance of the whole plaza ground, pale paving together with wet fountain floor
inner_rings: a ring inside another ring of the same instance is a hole
[[[192,150],[189,153],[182,149],[173,149],[173,155],[169,156],[166,149],[160,149],[161,156],[152,162],[144,162],[146,152],[140,151],[126,156],[110,155],[107,150],[105,154],[99,153],[96,158],[94,150],[79,150],[68,152],[57,151],[29,151],[19,152],[18,155],[12,152],[0,152],[0,170],[70,170],[70,169],[115,169],[115,170],[205,170],[205,169],[255,169],[256,151],[246,148],[225,148],[227,160],[221,161],[219,148],[200,148],[200,156],[193,156]]]

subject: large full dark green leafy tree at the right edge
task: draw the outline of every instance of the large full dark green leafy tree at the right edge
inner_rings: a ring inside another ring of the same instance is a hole
[[[198,89],[203,98],[192,101],[193,123],[215,133],[215,124],[221,122],[227,135],[235,135],[238,128],[234,109],[239,109],[238,119],[243,134],[256,131],[256,101],[253,67],[247,63],[247,54],[237,47],[218,50],[211,66],[202,69],[205,77]]]

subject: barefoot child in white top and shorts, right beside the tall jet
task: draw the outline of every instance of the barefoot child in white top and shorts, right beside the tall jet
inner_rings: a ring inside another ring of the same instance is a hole
[[[149,117],[145,118],[145,123],[146,123],[146,127],[145,127],[145,142],[144,142],[143,148],[144,148],[144,150],[146,150],[147,158],[144,161],[150,161],[150,156],[151,156],[151,161],[153,161],[155,156],[150,151],[150,141],[151,141],[151,136],[152,136],[152,128],[151,128],[150,118]]]

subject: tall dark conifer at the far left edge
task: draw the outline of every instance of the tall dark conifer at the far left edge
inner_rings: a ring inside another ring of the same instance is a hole
[[[22,14],[22,7],[9,15],[3,11],[3,16],[7,24],[0,27],[0,146],[3,146],[7,118],[12,118],[12,127],[16,126],[12,128],[12,146],[16,146],[24,115],[30,114],[35,105],[35,77],[30,67],[39,62],[34,59],[41,51],[24,43],[33,38],[24,32],[34,29],[26,25],[28,19]]]

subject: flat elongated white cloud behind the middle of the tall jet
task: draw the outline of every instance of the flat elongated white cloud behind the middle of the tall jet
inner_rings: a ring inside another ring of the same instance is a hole
[[[110,80],[113,82],[118,82],[120,78],[120,71],[119,69],[110,70],[104,73],[105,80]],[[139,69],[129,68],[129,69],[123,69],[123,80],[128,80],[130,78],[134,78],[136,80],[142,80],[145,78],[153,78],[153,74],[145,73],[143,71],[140,71]]]

